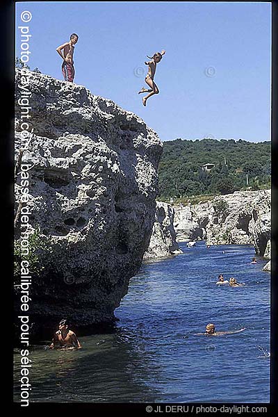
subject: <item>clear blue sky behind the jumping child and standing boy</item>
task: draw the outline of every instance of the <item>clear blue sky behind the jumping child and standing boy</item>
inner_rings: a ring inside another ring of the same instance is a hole
[[[56,47],[77,33],[74,81],[140,115],[161,140],[270,140],[270,3],[26,1],[16,11],[16,55],[17,26],[28,25],[31,70],[63,79]],[[161,49],[161,92],[145,108],[144,61]]]

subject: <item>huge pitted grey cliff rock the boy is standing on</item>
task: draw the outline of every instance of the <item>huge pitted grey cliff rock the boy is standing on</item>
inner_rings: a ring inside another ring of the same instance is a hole
[[[82,85],[27,77],[26,87],[24,71],[16,72],[15,156],[30,139],[29,222],[52,248],[40,254],[31,316],[48,324],[63,316],[76,325],[113,320],[149,246],[163,145],[140,117]],[[22,85],[34,137],[20,126]],[[19,174],[17,202],[21,193]]]

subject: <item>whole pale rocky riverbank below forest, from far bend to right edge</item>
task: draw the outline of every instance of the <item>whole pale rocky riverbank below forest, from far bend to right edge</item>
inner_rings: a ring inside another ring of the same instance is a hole
[[[177,240],[205,239],[207,245],[254,245],[270,258],[270,190],[238,191],[209,202],[176,207]]]

